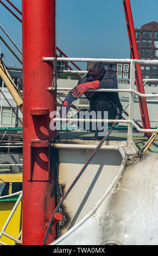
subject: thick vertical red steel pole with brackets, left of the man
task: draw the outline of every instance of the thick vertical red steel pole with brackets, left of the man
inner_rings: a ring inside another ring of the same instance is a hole
[[[56,53],[56,1],[22,0],[23,27],[23,220],[22,245],[42,245],[56,206],[55,167],[50,160],[49,114],[56,110],[53,65],[42,57]],[[55,159],[55,157],[54,157]],[[55,225],[48,242],[56,239]]]

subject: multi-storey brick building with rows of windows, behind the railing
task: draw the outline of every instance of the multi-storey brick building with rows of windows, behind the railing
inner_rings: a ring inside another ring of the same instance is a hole
[[[158,22],[152,21],[141,26],[140,29],[135,29],[136,41],[138,47],[138,54],[140,59],[157,60],[156,51],[158,47]],[[131,58],[131,57],[130,57]],[[118,82],[129,83],[128,81],[121,81],[122,79],[130,78],[130,65],[128,63],[110,64],[105,63],[105,69],[112,69],[117,72]],[[158,79],[158,65],[142,65],[142,78]],[[119,81],[120,79],[120,81]],[[147,82],[146,86],[158,87],[158,82]]]

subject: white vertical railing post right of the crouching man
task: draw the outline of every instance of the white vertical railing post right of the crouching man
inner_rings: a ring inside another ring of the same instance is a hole
[[[130,89],[135,89],[135,63],[133,60],[130,64]],[[134,120],[134,94],[129,95],[129,120]],[[132,141],[132,129],[131,123],[128,124],[128,144]]]

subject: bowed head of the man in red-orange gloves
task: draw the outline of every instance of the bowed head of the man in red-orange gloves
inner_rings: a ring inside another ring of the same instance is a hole
[[[92,81],[98,80],[104,74],[104,64],[102,62],[89,63],[89,75]]]

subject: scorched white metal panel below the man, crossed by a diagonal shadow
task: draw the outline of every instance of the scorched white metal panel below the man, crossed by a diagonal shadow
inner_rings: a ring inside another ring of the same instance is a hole
[[[77,143],[77,142],[75,142]],[[84,143],[84,142],[83,142]],[[67,149],[59,146],[59,187],[62,193],[65,193],[67,188],[71,185],[72,181],[78,175],[80,169],[87,161],[93,151],[94,147],[97,147],[98,142],[88,142],[89,146],[86,148],[83,144],[73,149],[73,146],[69,146],[67,143]],[[106,145],[106,143],[105,143]],[[119,145],[119,148],[116,147]],[[79,147],[78,147],[79,146]],[[87,146],[87,145],[86,145]],[[123,148],[127,147],[127,142],[110,143],[110,148],[104,148],[100,150],[87,166],[83,175],[80,176],[79,181],[73,187],[71,193],[62,203],[62,209],[64,209],[64,216],[66,225],[61,227],[61,234],[64,234],[67,229],[72,225],[80,221],[92,208],[94,204],[102,197],[106,188],[109,187],[113,178],[120,168],[120,164],[123,163],[123,156],[125,151]],[[135,151],[137,154],[137,150]],[[122,164],[121,164],[122,165]]]

